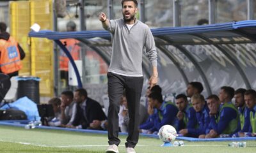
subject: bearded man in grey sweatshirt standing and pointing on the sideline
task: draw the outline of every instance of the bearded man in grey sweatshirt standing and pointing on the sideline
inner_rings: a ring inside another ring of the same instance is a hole
[[[150,28],[135,18],[138,1],[122,0],[124,18],[109,20],[100,13],[102,27],[112,34],[112,57],[108,69],[108,139],[106,152],[118,153],[118,111],[119,102],[125,89],[129,110],[129,133],[125,143],[126,152],[134,153],[138,143],[140,123],[140,97],[143,86],[142,54],[145,48],[152,63],[150,88],[157,84],[157,52]]]

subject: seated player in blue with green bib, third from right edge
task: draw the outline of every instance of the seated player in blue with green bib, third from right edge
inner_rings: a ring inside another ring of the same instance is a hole
[[[239,114],[235,105],[231,102],[234,97],[234,89],[232,87],[223,86],[219,94],[220,113],[217,114],[217,106],[209,108],[211,116],[211,129],[208,131],[205,138],[216,138],[218,136],[230,136],[237,133],[240,128]]]

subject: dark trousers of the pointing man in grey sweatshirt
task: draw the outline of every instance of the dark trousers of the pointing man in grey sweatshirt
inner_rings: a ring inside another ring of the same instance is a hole
[[[140,124],[140,97],[143,86],[143,77],[125,77],[108,72],[108,139],[109,145],[119,145],[118,138],[118,112],[120,101],[125,89],[128,111],[129,127],[125,147],[134,148],[139,139]]]

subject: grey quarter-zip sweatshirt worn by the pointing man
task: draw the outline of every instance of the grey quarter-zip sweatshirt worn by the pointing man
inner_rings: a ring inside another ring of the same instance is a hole
[[[143,48],[152,66],[157,66],[156,45],[148,25],[136,20],[129,30],[123,18],[109,20],[109,23],[109,27],[104,27],[112,34],[112,55],[108,71],[129,77],[143,76]]]

